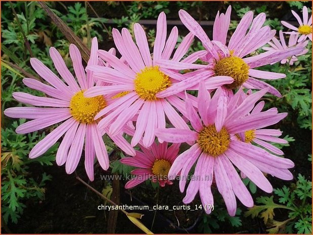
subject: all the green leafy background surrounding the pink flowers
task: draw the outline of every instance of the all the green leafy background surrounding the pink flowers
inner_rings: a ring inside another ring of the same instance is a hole
[[[52,147],[44,156],[33,160],[29,159],[28,153],[30,149],[56,126],[32,134],[16,134],[15,128],[18,126],[18,123],[23,123],[25,120],[16,121],[4,117],[3,110],[9,107],[21,106],[21,104],[13,99],[12,92],[24,91],[32,95],[42,96],[41,92],[29,89],[22,83],[24,77],[41,79],[30,67],[29,59],[32,56],[40,59],[45,65],[56,72],[49,57],[49,48],[50,46],[54,46],[61,53],[70,69],[71,63],[68,54],[70,42],[37,2],[12,2],[12,5],[9,2],[2,2],[1,4],[2,216],[5,224],[8,224],[10,227],[10,224],[19,222],[21,214],[27,207],[44,202],[45,193],[49,190],[49,182],[53,180],[51,174],[46,171],[51,167],[57,167],[54,159],[58,144]],[[255,14],[265,12],[267,15],[266,24],[273,29],[281,30],[283,27],[280,21],[283,18],[289,20],[293,17],[292,15],[290,16],[291,9],[300,12],[303,6],[309,6],[308,2],[244,3],[183,1],[47,2],[47,4],[82,39],[88,48],[90,48],[91,38],[97,36],[99,48],[104,50],[108,50],[113,46],[111,34],[113,27],[119,29],[121,27],[127,27],[132,32],[134,23],[142,20],[155,21],[162,11],[168,14],[168,20],[175,20],[177,22],[179,22],[179,9],[187,10],[195,19],[212,22],[214,21],[217,9],[224,12],[228,5],[231,5],[232,21],[230,24],[230,33],[232,33],[236,29],[240,18],[249,10],[254,11]],[[14,14],[13,9],[16,14]],[[170,30],[173,26],[169,25],[168,29]],[[144,27],[148,42],[153,46],[155,25],[145,24]],[[188,32],[181,24],[178,25],[178,28],[180,32],[178,42],[180,43]],[[208,30],[209,36],[212,37],[212,26],[207,26],[206,30]],[[25,43],[25,38],[29,46]],[[311,159],[311,155],[307,157],[311,152],[311,140],[307,135],[310,135],[309,130],[312,129],[311,42],[308,43],[307,49],[309,53],[298,57],[298,61],[292,66],[276,63],[262,68],[263,70],[286,73],[287,75],[284,79],[270,81],[271,85],[281,91],[283,97],[275,98],[273,96],[266,96],[264,100],[266,101],[267,108],[278,107],[280,112],[289,113],[288,117],[276,127],[284,131],[283,136],[290,142],[290,146],[288,148],[284,148],[285,146],[278,147],[283,148],[286,156],[296,162],[294,175],[297,178],[291,182],[274,181],[272,179],[276,190],[270,196],[264,196],[264,194],[258,193],[255,184],[248,178],[245,178],[244,182],[253,194],[256,206],[247,210],[245,207],[239,205],[236,216],[230,217],[225,210],[223,201],[217,198],[214,213],[210,215],[202,213],[199,219],[199,225],[195,231],[211,233],[227,229],[228,233],[311,233],[311,165],[307,162],[307,159]],[[203,46],[199,40],[194,39],[187,55],[199,50],[203,50]],[[256,51],[256,53],[259,52]],[[201,62],[199,61],[199,63]],[[289,135],[286,135],[286,133]],[[109,144],[108,146],[110,150],[114,150],[115,148],[113,144]],[[120,163],[119,158],[123,157],[122,155],[122,153],[118,152],[119,157],[111,161],[111,172],[126,177],[130,174],[132,168]],[[107,185],[111,185],[111,182],[106,182],[104,185],[101,183],[97,184],[97,182],[94,183],[98,187],[103,187],[103,192],[106,192],[106,196],[108,195],[107,192],[111,195],[111,187],[107,187]],[[158,183],[147,181],[145,185],[141,186],[140,190],[146,190],[142,194],[139,194],[142,201],[149,198],[154,200],[154,204],[157,199],[160,202],[164,202],[161,195],[162,191],[166,189],[159,189]],[[135,188],[130,192],[137,193],[138,196],[138,191],[139,189],[136,190]],[[148,191],[152,193],[148,194]],[[75,193],[79,194],[79,192]],[[82,195],[81,197],[84,198],[86,196]],[[280,210],[283,210],[284,213],[281,213]],[[91,208],[90,211],[94,211],[94,209]],[[35,215],[30,215],[30,218],[32,218],[31,216]],[[177,219],[177,217],[175,219],[175,216],[171,218],[174,222]],[[254,223],[256,225],[253,225],[257,228],[251,228],[250,224],[252,221],[257,221]],[[224,223],[229,226],[221,225]],[[129,224],[126,223],[125,227],[128,226]],[[83,231],[99,233],[102,230]],[[42,230],[41,232],[45,233],[48,231]],[[120,232],[123,232],[123,230]]]

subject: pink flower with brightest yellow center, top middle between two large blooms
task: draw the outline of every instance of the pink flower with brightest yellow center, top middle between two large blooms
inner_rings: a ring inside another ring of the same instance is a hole
[[[206,51],[195,52],[185,59],[183,56],[189,49],[193,35],[189,33],[179,44],[172,59],[174,47],[177,43],[178,30],[174,27],[167,37],[166,15],[162,12],[156,23],[156,37],[153,46],[153,58],[151,59],[148,41],[142,26],[138,23],[134,25],[134,43],[131,33],[122,29],[122,34],[117,29],[112,31],[113,39],[119,52],[126,60],[127,64],[121,62],[115,56],[99,50],[101,59],[107,61],[113,68],[104,68],[100,66],[88,66],[88,69],[94,71],[94,77],[111,83],[111,86],[93,87],[85,92],[86,97],[94,97],[108,93],[114,93],[120,96],[116,102],[108,105],[100,111],[95,118],[99,118],[112,109],[114,112],[104,117],[98,127],[106,127],[113,120],[110,126],[110,133],[115,135],[119,133],[125,124],[138,114],[136,121],[136,130],[131,140],[131,145],[135,146],[143,136],[143,145],[149,147],[155,138],[155,128],[164,128],[166,125],[165,116],[169,122],[180,129],[188,129],[186,122],[173,108],[177,108],[183,115],[186,113],[183,99],[183,92],[174,92],[176,95],[169,95],[163,99],[156,98],[156,93],[166,90],[173,84],[181,80],[181,74],[177,70],[164,69],[159,65],[159,61],[172,62],[176,64],[178,70],[181,69],[199,69],[206,65],[192,64],[206,54]],[[233,81],[232,78],[222,76],[219,79],[210,79],[206,82],[208,89],[217,88],[223,84]],[[161,140],[160,140],[161,141]]]

